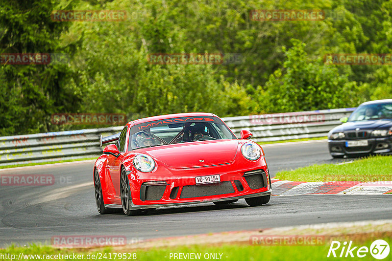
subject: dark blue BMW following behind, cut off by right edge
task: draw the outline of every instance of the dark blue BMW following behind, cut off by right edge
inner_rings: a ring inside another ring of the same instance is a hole
[[[363,103],[340,120],[328,132],[332,157],[392,152],[392,99]]]

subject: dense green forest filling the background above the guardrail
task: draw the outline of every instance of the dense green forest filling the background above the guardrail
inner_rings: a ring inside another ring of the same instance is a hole
[[[125,10],[122,22],[56,22],[53,10]],[[252,21],[254,9],[321,9],[321,21]],[[392,0],[1,0],[0,53],[62,53],[0,65],[0,135],[53,113],[190,111],[219,116],[356,107],[392,97],[390,65],[326,65],[328,53],[392,53]],[[154,65],[151,53],[236,53],[239,64]]]

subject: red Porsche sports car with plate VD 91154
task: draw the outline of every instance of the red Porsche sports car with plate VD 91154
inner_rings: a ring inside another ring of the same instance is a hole
[[[212,113],[154,116],[127,123],[94,165],[98,212],[143,209],[240,198],[250,206],[270,200],[271,181],[263,149],[250,131],[238,139]]]

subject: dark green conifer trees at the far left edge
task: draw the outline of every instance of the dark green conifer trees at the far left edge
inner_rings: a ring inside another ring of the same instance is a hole
[[[0,53],[70,53],[59,37],[68,24],[50,20],[51,0],[0,2]],[[72,7],[72,6],[71,6]],[[67,65],[0,65],[0,135],[49,130],[49,115],[72,111],[79,97],[67,88]]]

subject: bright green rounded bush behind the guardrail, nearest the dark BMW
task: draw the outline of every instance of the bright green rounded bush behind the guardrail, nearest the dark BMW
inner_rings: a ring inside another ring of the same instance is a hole
[[[260,103],[269,100],[269,111],[287,112],[356,106],[354,95],[359,91],[347,75],[339,74],[335,65],[325,65],[321,58],[308,58],[306,44],[293,39],[286,50],[283,69],[277,69],[266,83],[266,92],[259,95]]]

